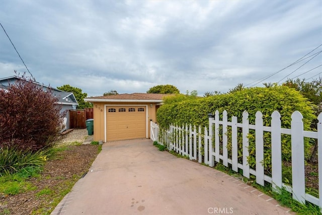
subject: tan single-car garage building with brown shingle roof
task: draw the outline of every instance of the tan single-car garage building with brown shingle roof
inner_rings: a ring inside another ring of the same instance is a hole
[[[94,140],[150,138],[149,122],[169,94],[133,93],[86,98],[93,103]]]

